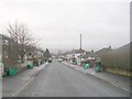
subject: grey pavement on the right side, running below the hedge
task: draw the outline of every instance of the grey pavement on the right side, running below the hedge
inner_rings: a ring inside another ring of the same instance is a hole
[[[103,80],[106,82],[111,84],[114,87],[121,88],[121,89],[132,94],[132,91],[130,90],[131,89],[130,88],[130,77],[122,76],[122,75],[117,75],[117,74],[111,74],[111,73],[107,73],[107,72],[96,73],[94,68],[85,69],[81,66],[72,65],[68,62],[63,62],[63,64],[65,64],[66,66],[72,67],[72,68],[74,68],[76,70],[79,70],[79,72],[81,72],[84,74],[94,76],[94,77],[96,77],[98,79],[101,79],[101,80]]]

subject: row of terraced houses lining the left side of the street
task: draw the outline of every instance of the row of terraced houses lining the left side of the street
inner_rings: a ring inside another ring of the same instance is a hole
[[[29,57],[32,57],[33,66],[40,66],[48,58],[44,50],[30,45],[20,45],[11,37],[0,34],[0,67],[3,76],[10,75],[10,70],[16,74],[26,69]]]

